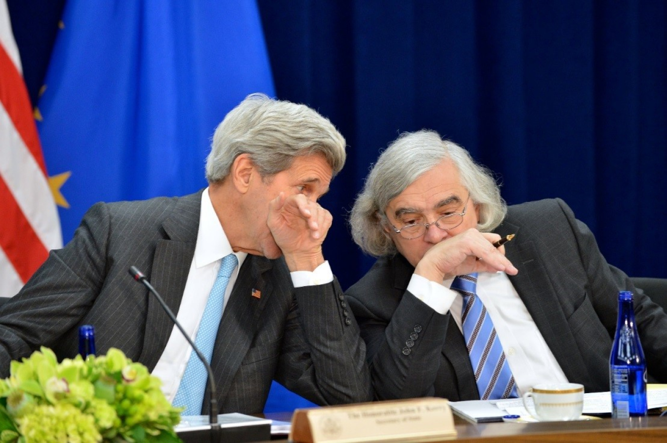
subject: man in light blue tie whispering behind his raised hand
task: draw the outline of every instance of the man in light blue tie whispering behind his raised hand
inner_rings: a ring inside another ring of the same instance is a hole
[[[317,199],[345,147],[313,109],[249,95],[215,131],[208,187],[93,205],[0,308],[0,376],[39,346],[72,358],[92,324],[98,352],[123,350],[184,414],[207,413],[203,365],[136,266],[209,360],[221,412],[261,412],[271,380],[317,404],[370,400],[366,348],[321,250],[331,214]]]

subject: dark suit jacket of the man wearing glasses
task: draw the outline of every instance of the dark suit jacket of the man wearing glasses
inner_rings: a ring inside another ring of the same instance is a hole
[[[560,199],[511,206],[501,236],[519,273],[510,281],[568,380],[586,392],[609,390],[609,355],[618,291],[635,292],[636,320],[649,372],[667,381],[667,316],[605,260],[588,228]],[[441,396],[478,400],[464,338],[406,291],[414,268],[400,255],[381,258],[346,292],[368,348],[380,399]],[[406,341],[417,334],[410,354]]]

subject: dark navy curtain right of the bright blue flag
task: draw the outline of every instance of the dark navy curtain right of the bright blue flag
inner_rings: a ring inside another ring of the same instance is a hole
[[[277,95],[346,136],[324,204],[344,287],[368,270],[346,213],[378,151],[430,128],[508,203],[562,197],[632,276],[667,277],[667,2],[259,0]]]

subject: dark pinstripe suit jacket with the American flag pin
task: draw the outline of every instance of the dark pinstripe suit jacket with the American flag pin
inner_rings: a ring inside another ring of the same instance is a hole
[[[81,324],[95,326],[99,353],[120,348],[152,370],[173,323],[127,270],[143,270],[177,312],[200,201],[201,191],[91,207],[73,240],[0,308],[0,376],[39,346],[75,356]],[[284,260],[248,256],[211,358],[221,412],[261,412],[273,378],[317,404],[370,400],[364,342],[342,302],[338,281],[295,290]]]

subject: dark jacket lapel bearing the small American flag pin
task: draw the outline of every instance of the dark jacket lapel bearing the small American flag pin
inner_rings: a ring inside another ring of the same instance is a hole
[[[263,276],[272,266],[267,258],[247,256],[229,296],[211,358],[220,405],[255,338],[259,316],[274,290],[271,281]],[[259,298],[252,295],[255,290],[261,292]],[[207,388],[204,405],[209,397]]]

